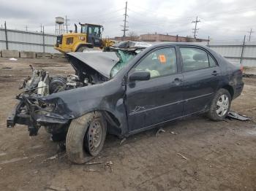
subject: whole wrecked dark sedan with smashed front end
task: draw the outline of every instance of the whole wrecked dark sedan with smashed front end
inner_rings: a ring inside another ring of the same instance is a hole
[[[32,69],[7,127],[40,127],[66,140],[67,157],[85,163],[102,150],[106,133],[120,138],[206,113],[224,120],[244,86],[241,69],[208,47],[160,43],[144,50],[67,54],[75,74],[50,77]]]

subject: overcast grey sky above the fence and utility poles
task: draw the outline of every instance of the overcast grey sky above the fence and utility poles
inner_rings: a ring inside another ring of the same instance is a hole
[[[96,23],[104,26],[103,37],[122,36],[124,0],[0,0],[0,27],[54,33],[55,17],[74,23]],[[136,34],[172,34],[193,36],[192,20],[198,16],[198,38],[213,40],[243,39],[252,28],[256,40],[255,0],[128,0],[129,31]],[[129,31],[127,34],[129,34]]]

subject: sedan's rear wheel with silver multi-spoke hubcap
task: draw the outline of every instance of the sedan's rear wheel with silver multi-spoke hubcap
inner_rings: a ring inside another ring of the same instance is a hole
[[[230,111],[231,96],[228,90],[219,89],[211,101],[207,117],[214,121],[222,121]]]

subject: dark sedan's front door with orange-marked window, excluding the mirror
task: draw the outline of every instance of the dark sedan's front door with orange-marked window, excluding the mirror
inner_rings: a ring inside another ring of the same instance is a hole
[[[180,117],[183,75],[178,73],[176,48],[154,50],[129,71],[149,71],[147,81],[127,84],[129,132]],[[129,76],[128,75],[128,76]]]

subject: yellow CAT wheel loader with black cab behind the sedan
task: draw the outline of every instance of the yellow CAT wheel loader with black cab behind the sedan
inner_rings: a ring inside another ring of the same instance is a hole
[[[80,33],[75,24],[75,32],[57,36],[57,42],[54,45],[60,52],[83,52],[86,49],[102,49],[114,44],[113,41],[102,39],[103,27],[94,24],[80,24]]]

